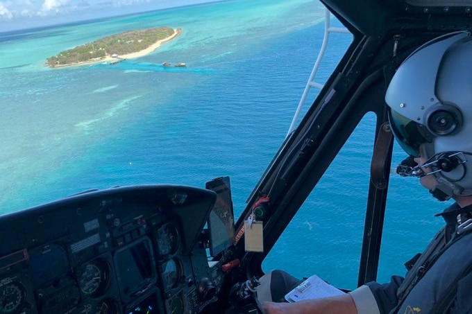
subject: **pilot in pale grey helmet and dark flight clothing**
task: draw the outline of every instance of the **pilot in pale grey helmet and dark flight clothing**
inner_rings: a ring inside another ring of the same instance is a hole
[[[281,293],[275,281],[288,283],[287,290],[298,281],[269,272],[258,289],[265,313],[472,313],[471,60],[470,33],[437,37],[398,67],[387,89],[391,130],[410,155],[397,172],[419,177],[435,198],[455,201],[437,215],[445,227],[405,264],[406,277],[369,282],[337,297],[284,303],[273,302],[288,292]]]

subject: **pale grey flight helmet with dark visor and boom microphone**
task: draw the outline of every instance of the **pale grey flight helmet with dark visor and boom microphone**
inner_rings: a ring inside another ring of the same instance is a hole
[[[403,150],[428,159],[413,175],[430,168],[439,182],[433,195],[441,200],[472,195],[471,34],[443,35],[416,49],[398,67],[385,101]]]

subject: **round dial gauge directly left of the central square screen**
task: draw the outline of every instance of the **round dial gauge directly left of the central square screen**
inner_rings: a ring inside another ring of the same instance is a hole
[[[84,295],[99,297],[102,295],[110,281],[110,268],[106,261],[96,259],[86,263],[78,275],[78,286]]]

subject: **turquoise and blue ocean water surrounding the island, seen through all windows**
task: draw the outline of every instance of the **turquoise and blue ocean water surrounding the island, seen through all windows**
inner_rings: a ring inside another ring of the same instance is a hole
[[[0,33],[0,213],[88,189],[203,187],[229,175],[238,215],[287,134],[321,46],[323,16],[312,0],[237,0]],[[183,34],[115,65],[44,66],[78,44],[155,26]],[[350,40],[332,37],[318,81]],[[372,119],[365,117],[264,270],[317,273],[355,288],[369,183],[357,181],[369,171]],[[391,183],[380,281],[404,273],[403,262],[441,225],[432,214],[444,206],[414,180]]]

